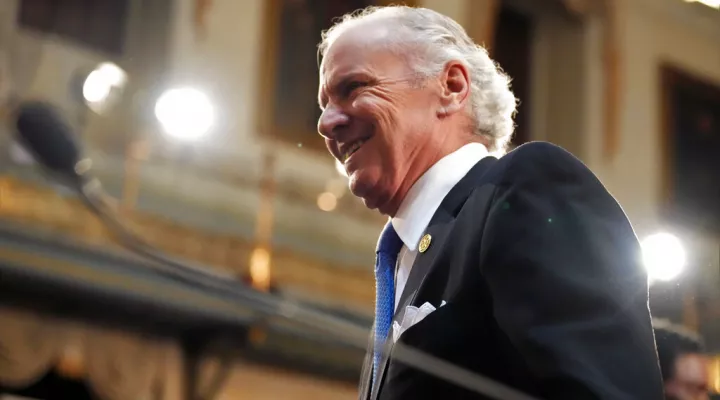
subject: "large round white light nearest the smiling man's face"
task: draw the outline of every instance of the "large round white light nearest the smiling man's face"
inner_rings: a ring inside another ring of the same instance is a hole
[[[205,93],[192,88],[170,89],[155,104],[155,117],[168,135],[198,139],[215,123],[215,110]]]

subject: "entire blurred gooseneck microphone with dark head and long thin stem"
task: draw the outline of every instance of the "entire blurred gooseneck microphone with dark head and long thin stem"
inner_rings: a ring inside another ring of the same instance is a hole
[[[280,318],[316,332],[334,336],[348,345],[364,350],[367,329],[310,307],[301,307],[282,297],[261,292],[238,290],[242,286],[234,277],[194,267],[155,250],[132,233],[116,218],[105,200],[97,180],[88,177],[89,161],[82,152],[69,124],[50,104],[27,102],[15,111],[17,139],[40,164],[54,175],[70,182],[86,206],[115,234],[128,250],[153,261],[150,268],[170,279],[216,291],[264,317]],[[387,349],[383,350],[387,352]],[[393,357],[400,362],[472,392],[498,400],[534,400],[513,388],[468,371],[430,354],[397,342]]]

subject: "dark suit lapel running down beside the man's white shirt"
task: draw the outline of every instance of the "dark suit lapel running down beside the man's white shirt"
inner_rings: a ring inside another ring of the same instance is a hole
[[[480,178],[485,174],[485,171],[487,171],[494,161],[497,161],[494,157],[485,157],[475,164],[467,175],[465,175],[465,177],[461,179],[455,187],[453,187],[450,193],[445,196],[445,199],[443,199],[440,207],[433,215],[428,228],[425,230],[425,234],[430,235],[430,245],[425,252],[418,253],[417,258],[413,263],[410,275],[405,283],[405,288],[400,296],[400,301],[398,301],[398,306],[395,309],[393,324],[395,322],[400,323],[400,321],[402,321],[405,314],[405,308],[407,306],[417,306],[417,304],[415,304],[415,299],[417,298],[420,290],[427,285],[425,280],[435,267],[435,259],[445,247],[445,241],[455,222],[455,216],[465,203],[465,200],[467,200],[468,196],[470,196],[470,193],[472,193],[472,191],[477,187]],[[380,386],[383,383],[383,377],[385,375],[385,369],[390,357],[390,352],[395,344],[392,337],[391,325],[390,332],[385,340],[384,349],[386,351],[383,354],[377,372],[377,379],[380,384],[372,383],[371,385],[372,395],[370,398],[372,400],[376,400],[380,394]],[[372,370],[372,366],[370,366],[370,370]],[[372,375],[372,373],[370,375]]]

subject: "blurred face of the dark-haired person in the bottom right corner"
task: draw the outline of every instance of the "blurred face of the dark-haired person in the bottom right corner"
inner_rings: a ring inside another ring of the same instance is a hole
[[[702,354],[682,354],[675,360],[675,374],[665,382],[670,400],[708,400],[709,361]]]

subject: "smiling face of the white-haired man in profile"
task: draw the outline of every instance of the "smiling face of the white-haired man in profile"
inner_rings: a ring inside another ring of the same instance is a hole
[[[438,80],[413,73],[406,58],[382,46],[387,29],[350,28],[320,68],[318,130],[343,163],[350,190],[368,208],[392,215],[438,146]]]

